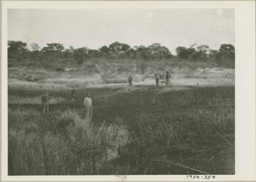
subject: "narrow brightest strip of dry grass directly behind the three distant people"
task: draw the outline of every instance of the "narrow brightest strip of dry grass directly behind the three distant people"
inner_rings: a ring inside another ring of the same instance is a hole
[[[166,69],[168,70],[168,69]],[[172,74],[172,84],[175,86],[218,86],[234,85],[234,70],[225,68],[169,68]],[[108,84],[127,84],[127,77],[133,76],[135,85],[155,85],[155,73],[160,74],[160,85],[164,85],[165,72],[155,71],[146,74],[131,72],[103,72],[93,75],[69,75],[63,73],[59,77],[48,78],[37,82],[8,79],[9,89],[20,90],[67,90],[75,87],[85,89],[88,87],[106,86]]]

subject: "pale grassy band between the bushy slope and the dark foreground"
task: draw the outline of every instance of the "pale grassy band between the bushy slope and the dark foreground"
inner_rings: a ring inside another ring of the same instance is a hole
[[[161,62],[160,62],[161,63]],[[159,63],[159,64],[160,64]],[[162,63],[161,63],[162,64]],[[129,75],[133,76],[135,85],[154,85],[155,74],[160,75],[160,85],[164,85],[165,73],[172,74],[173,86],[233,86],[234,69],[209,68],[199,63],[190,64],[190,67],[152,65],[144,74],[136,71],[136,66],[128,64],[125,70],[121,64],[114,66],[98,66],[98,71],[90,73],[86,67],[67,68],[65,71],[50,71],[32,69],[30,67],[12,67],[8,69],[8,88],[20,90],[68,90],[85,89],[89,87],[102,87],[126,85]],[[195,67],[198,66],[198,67]],[[210,66],[210,65],[208,65]],[[97,65],[96,65],[97,67]]]

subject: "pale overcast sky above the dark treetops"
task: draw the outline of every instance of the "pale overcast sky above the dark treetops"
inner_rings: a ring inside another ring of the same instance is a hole
[[[115,41],[135,45],[234,45],[233,9],[9,9],[8,40],[98,49]],[[29,46],[30,48],[30,46]]]

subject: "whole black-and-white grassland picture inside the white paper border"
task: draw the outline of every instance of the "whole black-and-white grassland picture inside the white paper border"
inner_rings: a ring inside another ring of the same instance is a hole
[[[8,176],[236,175],[235,12],[8,8]]]

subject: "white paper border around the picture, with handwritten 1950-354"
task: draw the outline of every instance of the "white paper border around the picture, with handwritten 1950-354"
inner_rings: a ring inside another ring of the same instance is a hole
[[[8,176],[8,9],[234,9],[235,11],[235,174],[207,181],[256,180],[255,1],[2,1],[2,141],[3,181],[204,181],[186,175]]]

